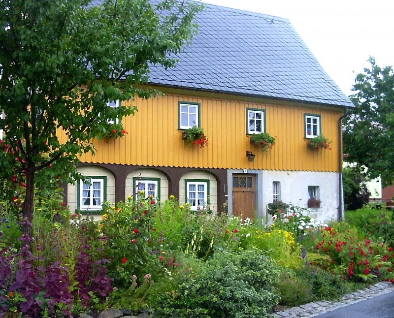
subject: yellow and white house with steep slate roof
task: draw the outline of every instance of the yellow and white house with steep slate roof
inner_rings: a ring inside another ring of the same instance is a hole
[[[149,85],[164,96],[127,102],[138,107],[124,119],[129,134],[81,156],[91,183],[67,186],[71,211],[95,213],[143,190],[243,218],[263,217],[273,200],[307,207],[316,197],[311,217],[340,217],[341,116],[351,101],[287,19],[206,4],[197,24],[176,68],[152,66]],[[207,147],[184,142],[193,126]],[[259,132],[276,138],[267,152],[250,142]],[[305,138],[321,134],[330,150],[308,149]]]

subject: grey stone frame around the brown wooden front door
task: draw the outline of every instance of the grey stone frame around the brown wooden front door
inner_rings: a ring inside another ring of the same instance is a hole
[[[255,176],[255,202],[257,217],[263,218],[263,170],[256,169],[229,169],[227,170],[227,189],[228,189],[228,213],[232,214],[232,175],[233,174],[253,174]]]

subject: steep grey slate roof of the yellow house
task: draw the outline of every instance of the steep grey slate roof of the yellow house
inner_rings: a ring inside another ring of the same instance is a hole
[[[152,66],[150,83],[353,106],[289,20],[206,4],[197,24],[177,66]]]

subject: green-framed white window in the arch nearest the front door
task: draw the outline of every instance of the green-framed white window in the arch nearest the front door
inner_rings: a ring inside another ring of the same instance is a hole
[[[185,201],[190,204],[191,210],[198,211],[207,207],[208,198],[208,179],[185,179]]]

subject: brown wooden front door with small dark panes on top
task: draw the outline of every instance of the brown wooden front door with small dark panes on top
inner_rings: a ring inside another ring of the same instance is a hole
[[[232,214],[253,219],[256,210],[256,180],[253,174],[232,175]]]

